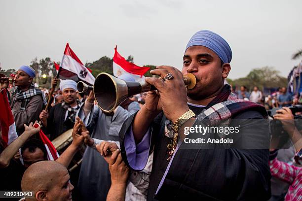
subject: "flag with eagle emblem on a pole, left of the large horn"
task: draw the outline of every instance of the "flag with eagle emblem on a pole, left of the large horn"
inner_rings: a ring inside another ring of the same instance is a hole
[[[83,65],[83,63],[76,56],[75,52],[69,47],[68,43],[66,44],[64,51],[61,69],[55,62],[54,64],[56,70],[60,71],[60,79],[72,79],[76,82],[83,81],[89,85],[94,84],[95,78],[91,73],[91,69]]]

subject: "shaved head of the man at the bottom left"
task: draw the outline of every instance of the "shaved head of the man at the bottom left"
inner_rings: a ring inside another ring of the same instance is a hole
[[[74,186],[65,166],[55,161],[40,161],[27,168],[21,188],[34,192],[34,198],[26,201],[72,201]]]

